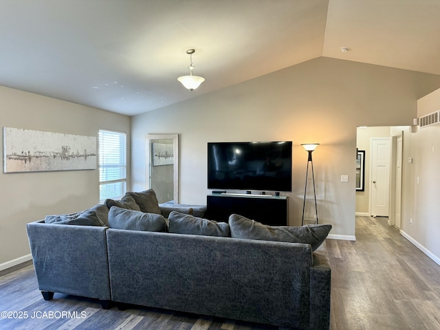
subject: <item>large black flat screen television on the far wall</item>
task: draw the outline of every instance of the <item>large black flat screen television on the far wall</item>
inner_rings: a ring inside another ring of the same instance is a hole
[[[208,189],[292,191],[292,141],[208,142]]]

